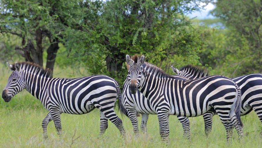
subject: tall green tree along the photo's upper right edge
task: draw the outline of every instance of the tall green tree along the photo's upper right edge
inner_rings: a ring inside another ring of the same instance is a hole
[[[236,69],[232,69],[231,73],[262,72],[262,1],[217,0],[214,4],[216,8],[211,13],[235,32],[231,34],[231,43],[240,45],[240,48],[227,49],[238,56]],[[245,44],[248,48],[241,47]]]

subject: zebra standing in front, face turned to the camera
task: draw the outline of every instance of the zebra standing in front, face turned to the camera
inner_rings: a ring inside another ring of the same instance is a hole
[[[169,142],[169,115],[200,116],[212,107],[226,129],[227,141],[232,137],[233,124],[242,129],[240,89],[231,79],[214,75],[176,80],[156,68],[149,73],[142,67],[144,60],[144,55],[133,59],[126,55],[129,90],[135,94],[138,89],[149,100],[157,113],[162,142]]]

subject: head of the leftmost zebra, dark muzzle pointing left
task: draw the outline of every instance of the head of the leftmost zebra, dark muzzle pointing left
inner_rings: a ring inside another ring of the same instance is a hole
[[[10,65],[8,62],[7,66],[12,72],[8,78],[6,87],[3,90],[2,97],[5,102],[9,102],[15,94],[19,93],[25,88],[25,82],[21,77],[20,65],[15,62],[14,65]]]

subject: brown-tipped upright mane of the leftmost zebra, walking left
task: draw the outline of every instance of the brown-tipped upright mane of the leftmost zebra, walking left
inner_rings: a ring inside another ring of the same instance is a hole
[[[52,71],[49,68],[44,69],[42,66],[32,63],[32,62],[17,62],[20,65],[20,69],[23,69],[28,72],[32,72],[39,76],[44,76],[49,78],[52,74]],[[12,64],[11,69],[15,71],[15,63]]]

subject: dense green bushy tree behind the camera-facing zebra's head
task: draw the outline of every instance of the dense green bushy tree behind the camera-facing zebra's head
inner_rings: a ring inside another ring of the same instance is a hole
[[[89,72],[108,74],[120,82],[127,73],[126,54],[143,53],[147,62],[167,71],[176,61],[197,64],[197,54],[208,34],[195,29],[185,14],[200,10],[200,2],[95,1],[90,5],[93,11],[89,12],[93,17],[81,23],[92,35],[85,41],[85,48],[70,54],[88,65]],[[180,59],[175,59],[178,57]]]

